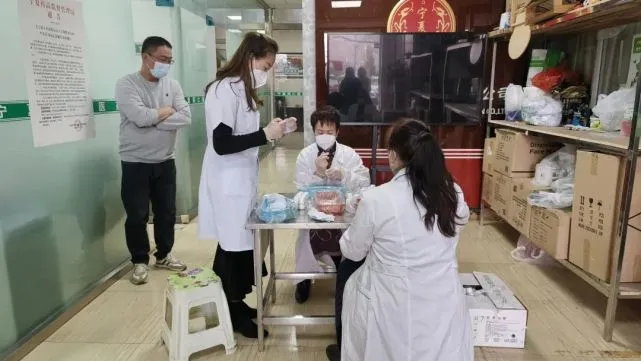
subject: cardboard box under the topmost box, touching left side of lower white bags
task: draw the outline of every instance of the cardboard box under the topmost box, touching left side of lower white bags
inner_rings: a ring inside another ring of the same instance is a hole
[[[512,195],[508,204],[507,223],[525,237],[530,237],[530,217],[532,206],[527,199],[536,189],[541,189],[532,184],[532,178],[516,178],[511,180]]]

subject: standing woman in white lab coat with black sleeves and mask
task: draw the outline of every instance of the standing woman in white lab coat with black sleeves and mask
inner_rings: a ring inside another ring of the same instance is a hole
[[[234,330],[250,338],[258,337],[258,328],[252,321],[256,310],[243,301],[254,284],[254,237],[245,224],[256,204],[258,148],[285,130],[280,119],[260,129],[258,113],[262,102],[257,89],[267,83],[276,53],[274,40],[248,33],[205,89],[207,148],[198,195],[199,233],[201,239],[218,241],[213,269],[221,278]]]

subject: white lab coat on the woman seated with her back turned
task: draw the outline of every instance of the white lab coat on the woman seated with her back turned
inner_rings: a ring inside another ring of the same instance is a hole
[[[467,223],[461,189],[457,213]],[[428,231],[404,171],[365,193],[340,240],[362,260],[343,295],[343,361],[472,361],[474,348],[456,261],[457,236]]]

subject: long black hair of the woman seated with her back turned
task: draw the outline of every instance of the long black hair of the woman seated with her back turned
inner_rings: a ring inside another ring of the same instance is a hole
[[[426,124],[401,119],[389,132],[387,148],[405,165],[414,201],[425,208],[425,228],[434,223],[446,237],[456,235],[458,194],[445,166],[445,156]]]

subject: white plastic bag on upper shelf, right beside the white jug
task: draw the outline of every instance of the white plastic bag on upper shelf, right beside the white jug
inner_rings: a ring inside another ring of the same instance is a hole
[[[563,104],[537,87],[523,89],[523,120],[532,125],[558,127],[563,118]]]

